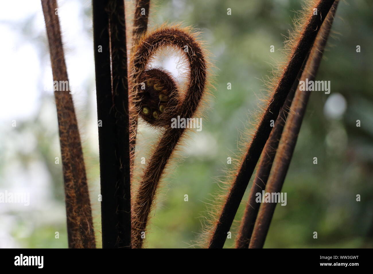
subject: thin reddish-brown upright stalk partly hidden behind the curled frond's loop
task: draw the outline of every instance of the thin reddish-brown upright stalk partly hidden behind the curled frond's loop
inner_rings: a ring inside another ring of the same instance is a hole
[[[134,26],[132,31],[132,51],[134,46],[139,42],[142,35],[145,34],[148,27],[150,0],[136,0]],[[135,147],[137,134],[137,111],[131,111],[131,127],[130,127],[130,149],[131,149],[131,170],[134,168]]]

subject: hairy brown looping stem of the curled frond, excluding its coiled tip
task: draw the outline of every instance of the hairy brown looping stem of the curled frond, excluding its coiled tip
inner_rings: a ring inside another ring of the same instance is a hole
[[[173,117],[176,117],[176,115],[184,118],[193,117],[206,86],[206,61],[204,53],[200,44],[187,31],[176,27],[169,27],[160,28],[151,34],[147,34],[135,48],[131,59],[131,64],[134,66],[132,73],[133,89],[134,93],[136,93],[139,80],[142,78],[149,58],[159,48],[167,45],[173,46],[186,55],[190,66],[189,86],[185,94],[185,101],[181,102],[175,108],[175,116]],[[182,51],[185,45],[188,46],[188,52]],[[141,100],[141,98],[138,98],[138,100]],[[172,128],[171,121],[169,120],[169,124],[164,128],[163,136],[148,160],[149,164],[142,176],[138,195],[134,203],[132,222],[133,248],[141,248],[142,246],[148,215],[151,211],[159,180],[184,132],[184,128]]]

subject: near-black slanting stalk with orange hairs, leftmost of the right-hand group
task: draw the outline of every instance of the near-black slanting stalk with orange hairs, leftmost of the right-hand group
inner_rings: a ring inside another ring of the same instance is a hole
[[[285,103],[286,97],[297,78],[298,72],[308,52],[316,38],[317,32],[322,25],[330,7],[334,0],[319,0],[315,4],[318,15],[313,15],[313,9],[308,11],[307,18],[303,29],[301,29],[299,39],[296,41],[292,49],[289,62],[286,64],[282,75],[279,78],[278,84],[270,99],[263,117],[256,129],[256,132],[248,147],[247,154],[242,161],[241,167],[232,183],[219,220],[216,223],[214,233],[210,239],[209,248],[223,248],[226,235],[232,225],[235,214],[241,203],[242,197],[250,181],[251,175],[255,169],[261,151],[272,130],[270,120],[276,120],[279,115],[280,108]]]

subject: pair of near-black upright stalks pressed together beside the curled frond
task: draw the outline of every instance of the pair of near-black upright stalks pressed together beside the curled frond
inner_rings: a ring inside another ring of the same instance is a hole
[[[93,1],[103,248],[131,247],[131,180],[125,7]],[[102,46],[102,52],[98,47]],[[110,73],[110,56],[112,74]]]

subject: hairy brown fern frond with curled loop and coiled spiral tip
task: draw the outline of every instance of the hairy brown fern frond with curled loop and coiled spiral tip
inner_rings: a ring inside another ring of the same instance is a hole
[[[184,54],[189,64],[189,83],[183,100],[179,99],[181,91],[176,89],[170,73],[160,69],[147,70],[151,57],[167,46]],[[171,127],[171,119],[194,116],[206,88],[207,62],[200,42],[189,28],[163,26],[141,38],[134,48],[130,64],[132,96],[137,102],[138,112],[151,125],[163,127],[164,132],[141,177],[133,206],[132,246],[141,248],[141,236],[145,232],[162,173],[185,132],[184,128]],[[143,90],[141,83],[145,84]]]

